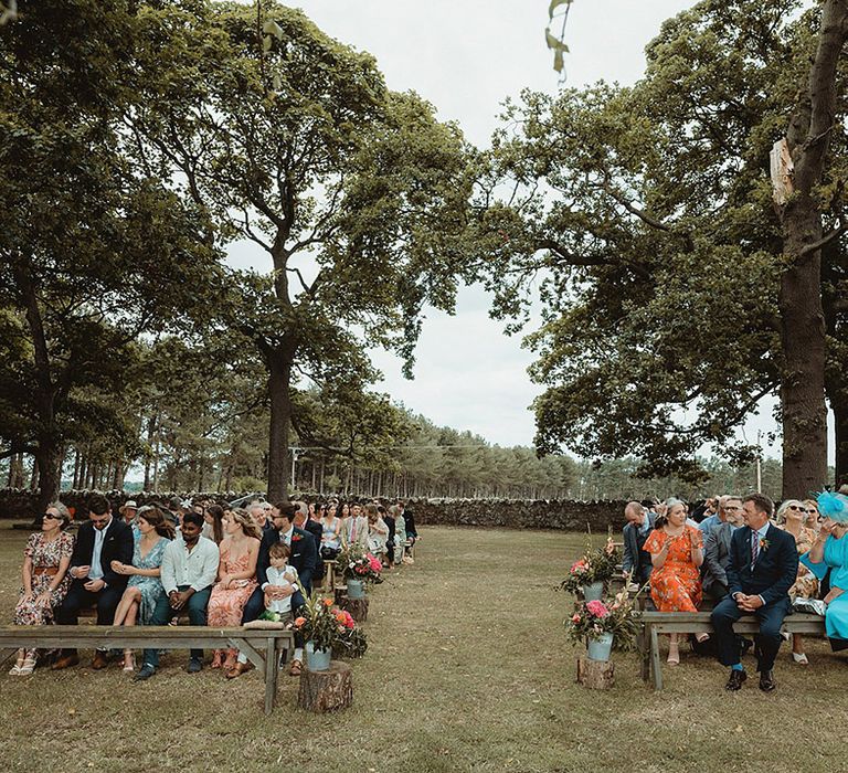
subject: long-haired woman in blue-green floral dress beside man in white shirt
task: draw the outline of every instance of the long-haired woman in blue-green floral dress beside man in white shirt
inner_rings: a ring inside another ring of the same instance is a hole
[[[149,625],[153,610],[161,596],[161,565],[165,548],[174,537],[173,526],[156,507],[142,507],[138,511],[138,530],[141,534],[136,540],[132,563],[112,562],[112,570],[129,578],[127,590],[115,610],[114,625]],[[124,670],[136,670],[131,649],[124,650]]]

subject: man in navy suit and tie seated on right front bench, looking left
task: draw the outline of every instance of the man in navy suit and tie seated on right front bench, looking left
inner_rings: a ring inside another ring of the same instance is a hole
[[[791,608],[788,590],[798,573],[798,552],[793,536],[771,523],[774,504],[768,497],[752,494],[742,507],[745,526],[733,532],[730,542],[729,594],[712,611],[711,620],[719,661],[731,668],[725,688],[735,691],[748,675],[740,663],[733,623],[742,615],[756,615],[760,689],[771,692],[775,688],[772,669],[781,647],[781,626]]]

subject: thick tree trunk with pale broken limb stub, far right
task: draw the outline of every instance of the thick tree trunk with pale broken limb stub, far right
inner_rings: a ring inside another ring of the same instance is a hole
[[[826,0],[818,47],[786,141],[795,193],[778,209],[787,269],[781,280],[783,497],[804,498],[827,477],[825,320],[822,308],[822,182],[836,120],[836,71],[848,34],[848,0]]]

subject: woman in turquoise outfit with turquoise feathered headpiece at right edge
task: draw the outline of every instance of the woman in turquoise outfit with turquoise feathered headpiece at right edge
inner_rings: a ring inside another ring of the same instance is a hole
[[[830,648],[840,652],[848,648],[848,496],[828,491],[819,495],[817,505],[824,520],[809,559],[830,568],[825,629]]]

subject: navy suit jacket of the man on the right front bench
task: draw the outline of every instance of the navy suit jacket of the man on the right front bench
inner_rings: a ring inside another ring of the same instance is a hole
[[[788,600],[788,590],[798,575],[795,538],[770,523],[765,540],[768,547],[760,548],[756,563],[752,566],[751,528],[744,526],[733,532],[727,569],[731,596],[734,593],[760,595],[766,604]]]

